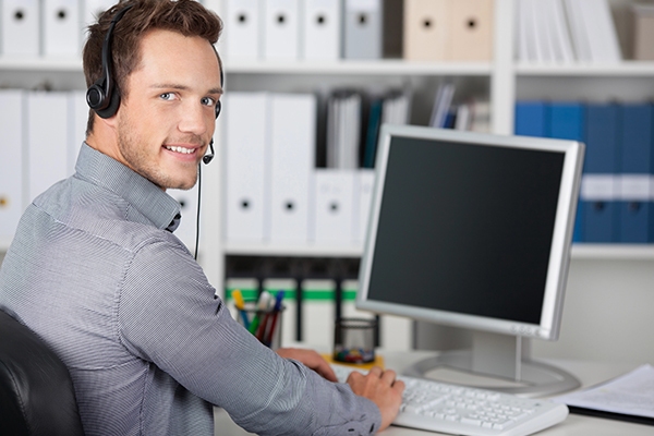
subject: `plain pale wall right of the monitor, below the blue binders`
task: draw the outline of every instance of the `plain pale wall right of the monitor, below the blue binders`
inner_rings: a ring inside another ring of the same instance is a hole
[[[654,261],[573,259],[559,340],[535,356],[654,363]]]

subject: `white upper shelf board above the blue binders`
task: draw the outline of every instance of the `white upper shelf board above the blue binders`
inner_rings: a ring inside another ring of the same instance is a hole
[[[518,76],[590,76],[590,77],[654,77],[654,62],[623,61],[620,63],[519,63]]]

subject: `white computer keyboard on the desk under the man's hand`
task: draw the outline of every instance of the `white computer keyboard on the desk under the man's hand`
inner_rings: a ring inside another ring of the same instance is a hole
[[[332,365],[344,383],[355,368]],[[365,372],[362,372],[365,373]],[[395,425],[465,436],[524,436],[568,416],[566,404],[399,376],[407,385]]]

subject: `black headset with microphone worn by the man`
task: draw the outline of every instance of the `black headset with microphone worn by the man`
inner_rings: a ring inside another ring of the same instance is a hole
[[[105,35],[105,41],[102,43],[102,76],[86,90],[86,104],[100,118],[113,117],[118,111],[118,107],[120,106],[120,93],[118,92],[117,85],[113,83],[113,77],[111,76],[111,39],[113,36],[113,27],[116,27],[116,24],[123,17],[125,12],[133,7],[133,4],[124,7],[118,11],[111,20],[107,35]],[[219,68],[220,84],[222,84],[225,76],[222,73],[222,66],[220,65]],[[220,114],[221,109],[222,105],[220,104],[220,100],[216,101],[216,119]],[[214,140],[209,142],[209,148],[210,153],[202,158],[202,161],[205,165],[209,164],[211,159],[214,159]]]

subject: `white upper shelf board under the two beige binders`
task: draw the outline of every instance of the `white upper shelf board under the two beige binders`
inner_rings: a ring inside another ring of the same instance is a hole
[[[407,62],[400,59],[370,61],[225,61],[227,74],[320,75],[491,75],[488,62]]]

